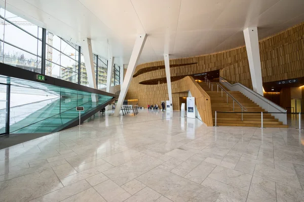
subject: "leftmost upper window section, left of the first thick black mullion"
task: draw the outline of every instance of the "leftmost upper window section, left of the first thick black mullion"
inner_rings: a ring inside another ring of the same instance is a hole
[[[0,8],[0,61],[41,73],[42,28]]]

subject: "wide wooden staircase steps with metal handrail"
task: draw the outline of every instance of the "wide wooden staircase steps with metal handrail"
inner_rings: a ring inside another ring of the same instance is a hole
[[[213,125],[215,125],[215,111],[217,112],[240,112],[240,113],[217,113],[216,114],[216,125],[217,126],[249,126],[249,127],[261,127],[261,113],[266,112],[257,104],[255,104],[251,99],[246,97],[240,91],[230,91],[229,89],[222,86],[219,82],[212,82],[213,91],[211,91],[212,87],[210,84],[207,85],[205,82],[198,82],[199,85],[208,93],[211,99],[211,109],[212,109],[212,117],[213,117]],[[247,112],[259,112],[259,113],[243,113],[243,121],[242,121],[242,110],[238,104],[235,103],[233,110],[233,99],[227,96],[223,91],[223,95],[221,96],[221,88],[218,88],[217,92],[217,84],[221,85],[225,90],[229,91],[229,93],[235,97],[239,103],[241,103],[246,109]],[[273,117],[271,114],[263,114],[263,127],[273,127],[273,128],[287,128],[287,125],[283,125],[278,119]]]

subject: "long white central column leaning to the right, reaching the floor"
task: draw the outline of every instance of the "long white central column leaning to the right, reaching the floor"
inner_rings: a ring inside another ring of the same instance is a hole
[[[144,43],[146,41],[146,38],[147,38],[146,34],[138,34],[136,36],[136,40],[135,40],[132,55],[131,55],[131,58],[130,58],[130,61],[129,61],[126,76],[125,76],[123,85],[121,86],[121,92],[120,92],[119,97],[118,97],[118,102],[117,102],[117,105],[116,105],[114,116],[119,116],[121,107],[123,105],[123,102],[125,100],[127,91],[129,89],[129,86],[130,86],[130,83],[131,83],[131,80],[132,80],[132,77],[133,77],[133,74],[134,74],[134,71],[135,71],[135,68],[136,68],[136,64],[137,64],[138,59],[140,57],[140,54],[142,52],[142,49],[143,49]]]

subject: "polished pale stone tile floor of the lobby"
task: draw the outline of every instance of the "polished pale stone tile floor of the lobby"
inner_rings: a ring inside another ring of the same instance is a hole
[[[304,131],[95,116],[0,150],[0,201],[304,201]]]

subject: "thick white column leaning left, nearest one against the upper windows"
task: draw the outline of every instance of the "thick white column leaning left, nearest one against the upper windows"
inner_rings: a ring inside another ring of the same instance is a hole
[[[87,77],[88,77],[88,81],[89,81],[89,87],[97,89],[91,39],[82,38],[81,44],[82,44],[84,59],[86,62],[86,71],[87,71]],[[80,74],[80,72],[79,72],[79,74]],[[92,95],[92,101],[93,102],[98,101],[98,98],[96,95]]]

